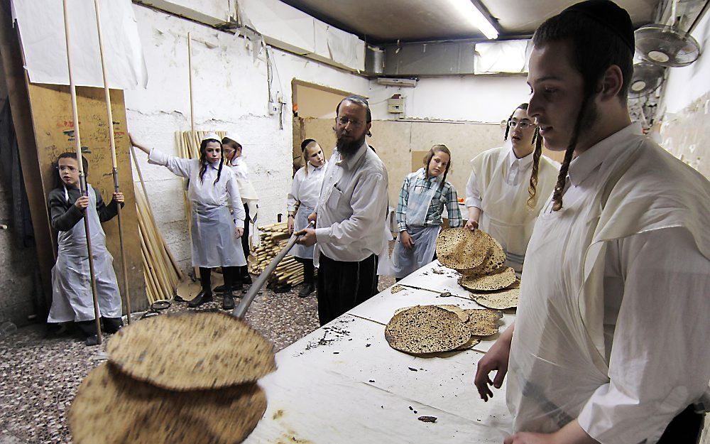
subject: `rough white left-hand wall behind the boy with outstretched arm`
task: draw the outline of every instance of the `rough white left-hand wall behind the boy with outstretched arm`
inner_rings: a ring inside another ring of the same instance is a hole
[[[285,213],[292,173],[291,80],[297,78],[339,90],[368,93],[369,80],[322,63],[273,50],[273,87],[286,102],[283,129],[268,114],[266,63],[256,60],[244,38],[215,31],[166,13],[134,5],[148,65],[147,90],[126,91],[129,131],[147,146],[177,154],[175,131],[190,129],[187,32],[192,33],[195,127],[236,131],[252,181],[261,197],[259,222],[275,222]],[[210,49],[215,45],[215,48]],[[182,180],[160,166],[148,165],[138,151],[155,218],[185,269],[190,244],[182,198]],[[137,175],[134,174],[137,179]]]

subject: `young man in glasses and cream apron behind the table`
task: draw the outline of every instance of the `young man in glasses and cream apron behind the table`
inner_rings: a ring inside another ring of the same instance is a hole
[[[506,144],[476,156],[466,183],[466,228],[481,228],[501,243],[506,264],[518,273],[528,241],[557,176],[555,162],[542,156],[542,138],[520,104],[508,118]]]

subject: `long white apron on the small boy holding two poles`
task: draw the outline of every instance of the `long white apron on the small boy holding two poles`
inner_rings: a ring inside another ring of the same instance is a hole
[[[96,194],[91,185],[87,184],[87,188],[89,206],[86,217],[89,218],[99,313],[104,318],[120,318],[121,295],[112,265],[114,258],[106,249],[106,236],[96,211]],[[65,196],[68,201],[66,188]],[[57,263],[52,269],[52,308],[47,322],[94,320],[84,220],[77,222],[69,231],[59,232],[57,243]]]

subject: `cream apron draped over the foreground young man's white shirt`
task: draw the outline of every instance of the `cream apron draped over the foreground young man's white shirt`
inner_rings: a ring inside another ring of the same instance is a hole
[[[508,366],[506,399],[515,431],[559,430],[610,381],[602,297],[608,242],[686,227],[701,253],[710,255],[710,215],[699,210],[707,203],[698,201],[710,197],[706,180],[638,138],[598,178],[596,193],[565,200],[561,211],[537,218]],[[659,189],[654,171],[672,172],[684,183]]]

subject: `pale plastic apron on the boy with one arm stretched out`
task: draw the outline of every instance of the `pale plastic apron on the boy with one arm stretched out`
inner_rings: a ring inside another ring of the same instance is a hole
[[[193,203],[191,216],[192,266],[214,269],[246,265],[229,207]]]

